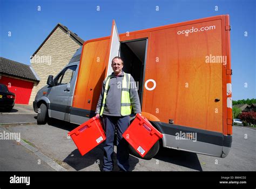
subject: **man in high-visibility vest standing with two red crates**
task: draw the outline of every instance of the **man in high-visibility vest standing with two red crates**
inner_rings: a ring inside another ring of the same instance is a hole
[[[122,71],[120,57],[112,59],[114,72],[103,82],[102,93],[96,107],[96,117],[103,116],[106,132],[103,171],[113,170],[114,132],[117,126],[117,165],[120,171],[129,171],[129,144],[122,137],[130,125],[130,114],[141,113],[138,91],[133,77]]]

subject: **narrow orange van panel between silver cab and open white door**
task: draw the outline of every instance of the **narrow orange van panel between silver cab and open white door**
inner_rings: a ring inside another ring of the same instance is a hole
[[[105,78],[109,39],[84,43],[72,107],[95,110]]]

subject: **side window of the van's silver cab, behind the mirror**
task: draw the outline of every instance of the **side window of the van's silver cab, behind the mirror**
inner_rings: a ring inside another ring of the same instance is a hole
[[[73,78],[76,69],[77,65],[74,65],[63,70],[55,79],[57,81],[56,85],[68,84]]]

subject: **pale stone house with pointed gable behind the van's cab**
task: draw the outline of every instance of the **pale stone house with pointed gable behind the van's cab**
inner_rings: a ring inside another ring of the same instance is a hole
[[[29,104],[33,103],[37,91],[46,85],[48,76],[55,77],[83,43],[84,40],[66,26],[60,23],[55,26],[31,56],[31,66],[40,78],[40,82],[33,87]]]

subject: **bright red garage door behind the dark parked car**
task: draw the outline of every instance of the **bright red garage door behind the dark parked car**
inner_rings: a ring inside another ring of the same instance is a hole
[[[5,84],[9,91],[16,94],[15,104],[29,104],[29,98],[33,88],[32,82],[2,76],[0,83]]]

